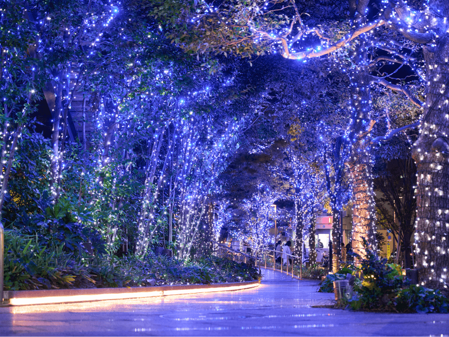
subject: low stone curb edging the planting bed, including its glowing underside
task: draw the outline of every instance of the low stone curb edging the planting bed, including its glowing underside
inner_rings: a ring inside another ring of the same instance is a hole
[[[5,291],[11,306],[105,301],[108,299],[159,297],[217,291],[235,291],[259,286],[259,280],[210,285],[173,285],[134,288],[89,288]]]

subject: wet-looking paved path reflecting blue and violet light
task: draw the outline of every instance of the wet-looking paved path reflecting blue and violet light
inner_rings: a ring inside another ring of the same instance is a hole
[[[449,337],[449,314],[373,314],[311,308],[332,302],[317,282],[270,270],[235,292],[0,308],[0,336]]]

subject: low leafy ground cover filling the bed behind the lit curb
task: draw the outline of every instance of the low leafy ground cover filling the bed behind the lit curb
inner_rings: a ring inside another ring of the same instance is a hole
[[[150,252],[143,257],[104,258],[69,252],[64,247],[64,243],[44,244],[38,235],[6,231],[5,290],[210,284],[259,279],[254,267],[215,256],[183,260]]]

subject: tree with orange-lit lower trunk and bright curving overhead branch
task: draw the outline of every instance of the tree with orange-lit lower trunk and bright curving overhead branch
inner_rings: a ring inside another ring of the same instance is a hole
[[[280,52],[282,57],[291,60],[315,58],[336,51],[324,63],[320,74],[330,73],[330,66],[347,71],[350,80],[351,118],[348,140],[352,146],[349,160],[353,197],[353,245],[359,255],[365,254],[363,240],[375,246],[375,209],[372,197],[372,178],[370,164],[371,129],[375,123],[371,111],[371,84],[376,83],[403,92],[414,104],[421,105],[407,87],[394,85],[386,80],[387,76],[372,76],[373,68],[381,61],[396,62],[393,57],[376,55],[375,50],[381,44],[371,44],[361,39],[354,41],[362,33],[381,26],[372,24],[366,28],[368,2],[355,6],[355,16],[348,21],[335,22],[336,14],[344,14],[344,6],[334,5],[335,12],[329,12],[328,6],[299,5],[295,1],[252,2],[236,0],[211,8],[206,2],[192,5],[188,2],[173,4],[162,2],[154,9],[156,18],[165,19],[168,36],[181,48],[193,53],[232,52],[243,57]],[[302,6],[301,10],[298,6]],[[306,9],[307,8],[307,9]],[[320,21],[321,28],[310,28],[300,12],[308,11],[309,16],[316,15],[310,21]],[[176,13],[176,17],[173,17]],[[184,25],[189,25],[187,31]],[[350,27],[355,27],[355,30]],[[352,35],[344,36],[345,30],[354,30]],[[296,31],[298,31],[296,33]],[[378,36],[379,35],[379,36]],[[375,38],[383,38],[382,32]],[[336,43],[333,43],[337,41]],[[311,43],[319,46],[310,48]],[[296,51],[307,48],[306,51]],[[321,52],[326,50],[326,52]],[[390,50],[391,52],[391,50]],[[394,54],[396,51],[392,51]],[[401,63],[401,61],[397,61]],[[393,71],[393,73],[396,71]],[[391,80],[391,79],[390,79]],[[414,127],[415,124],[409,127]]]

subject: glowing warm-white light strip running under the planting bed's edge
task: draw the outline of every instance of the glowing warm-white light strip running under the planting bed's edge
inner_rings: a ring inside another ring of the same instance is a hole
[[[232,283],[228,285],[212,285],[212,287],[199,287],[198,285],[191,286],[166,286],[166,287],[147,287],[148,291],[135,291],[130,292],[128,288],[124,288],[123,292],[117,292],[117,288],[110,288],[107,290],[114,290],[113,292],[105,292],[100,294],[89,294],[89,291],[97,289],[80,289],[70,290],[70,292],[79,292],[80,294],[60,295],[60,296],[45,296],[45,292],[49,291],[18,291],[13,292],[9,299],[9,304],[12,306],[24,306],[24,305],[39,305],[39,304],[61,304],[61,303],[74,303],[74,302],[92,302],[92,301],[105,301],[110,299],[128,299],[128,298],[143,298],[143,297],[158,297],[158,296],[170,296],[170,295],[188,295],[196,293],[208,293],[217,291],[235,291],[258,287],[259,282],[243,282]],[[155,288],[155,290],[150,290]],[[168,288],[164,290],[164,288]],[[176,289],[178,288],[178,289]],[[133,288],[131,288],[133,289]],[[143,290],[141,288],[137,288]],[[32,296],[33,293],[42,294],[41,296]],[[15,297],[17,296],[17,297]]]

